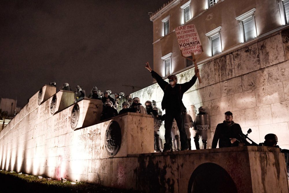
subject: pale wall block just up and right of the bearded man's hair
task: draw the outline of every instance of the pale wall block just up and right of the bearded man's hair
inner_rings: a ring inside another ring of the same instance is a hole
[[[256,106],[255,90],[232,95],[232,111],[249,109]]]

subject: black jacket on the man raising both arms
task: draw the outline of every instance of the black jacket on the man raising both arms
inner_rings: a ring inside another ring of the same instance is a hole
[[[162,99],[162,110],[164,109],[172,109],[172,104],[170,104],[169,97],[171,93],[177,92],[177,101],[175,101],[176,105],[179,107],[181,112],[183,112],[186,108],[182,101],[184,93],[190,89],[194,85],[197,80],[197,76],[193,76],[189,82],[185,82],[183,84],[176,84],[175,87],[171,87],[171,85],[166,82],[158,73],[155,71],[151,71],[151,76],[158,82],[161,89],[164,91],[164,97]]]

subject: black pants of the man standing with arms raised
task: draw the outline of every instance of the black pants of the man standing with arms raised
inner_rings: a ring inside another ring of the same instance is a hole
[[[166,109],[166,118],[164,120],[164,138],[166,140],[166,146],[171,145],[172,143],[171,129],[174,119],[176,120],[177,126],[179,128],[181,149],[188,149],[187,134],[185,131],[183,116],[181,115],[181,112],[169,109]]]

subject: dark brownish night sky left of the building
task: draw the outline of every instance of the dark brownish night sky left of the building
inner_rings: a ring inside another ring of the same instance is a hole
[[[43,85],[112,93],[152,84],[155,12],[168,0],[0,1],[0,97],[23,107]],[[136,88],[139,90],[141,88]]]

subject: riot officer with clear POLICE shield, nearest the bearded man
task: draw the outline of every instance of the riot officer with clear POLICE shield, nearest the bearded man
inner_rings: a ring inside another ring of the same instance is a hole
[[[199,137],[202,138],[203,149],[207,149],[207,139],[208,135],[210,137],[210,116],[206,114],[206,109],[204,106],[199,107],[199,113],[196,116],[194,129],[196,130],[196,136],[194,137],[194,142],[196,149],[200,149]]]

